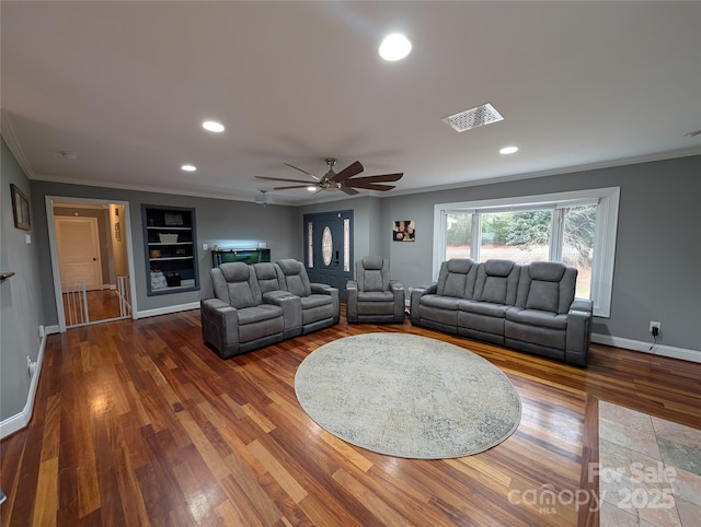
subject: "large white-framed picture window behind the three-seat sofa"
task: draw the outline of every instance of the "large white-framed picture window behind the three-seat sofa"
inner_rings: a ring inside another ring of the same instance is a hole
[[[436,204],[434,278],[449,258],[563,261],[576,295],[610,314],[619,188]]]

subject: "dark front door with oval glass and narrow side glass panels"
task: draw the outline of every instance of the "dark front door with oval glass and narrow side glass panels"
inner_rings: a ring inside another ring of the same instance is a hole
[[[345,298],[353,277],[353,211],[304,214],[304,239],[309,280],[336,288]]]

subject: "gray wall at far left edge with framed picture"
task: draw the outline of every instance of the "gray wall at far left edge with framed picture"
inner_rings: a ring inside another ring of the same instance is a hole
[[[10,184],[32,200],[30,181],[2,141],[0,169],[0,270],[16,274],[0,283],[0,421],[22,412],[30,393],[27,355],[36,361],[39,351],[38,326],[44,325],[43,291],[39,285],[38,244],[34,237],[36,216],[30,212],[32,243],[14,227]]]

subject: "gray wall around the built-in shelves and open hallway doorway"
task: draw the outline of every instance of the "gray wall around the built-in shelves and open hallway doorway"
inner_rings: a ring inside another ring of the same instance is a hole
[[[254,202],[33,180],[34,229],[38,247],[42,291],[44,292],[44,313],[48,325],[58,324],[58,314],[54,298],[54,279],[51,276],[46,221],[46,196],[127,201],[129,203],[131,248],[135,266],[134,279],[138,312],[189,304],[198,302],[199,298],[210,297],[209,269],[211,268],[211,254],[209,249],[214,244],[220,247],[251,247],[252,245],[256,246],[258,242],[265,242],[267,247],[271,248],[273,260],[287,257],[299,258],[300,255],[297,253],[299,245],[297,241],[299,239],[301,227],[294,221],[296,215],[295,209],[291,207],[274,204],[262,207]],[[195,209],[199,291],[147,296],[146,280],[148,272],[141,225],[142,203],[191,207]],[[123,236],[126,236],[126,232],[123,232]],[[209,245],[208,250],[203,250],[203,243]]]

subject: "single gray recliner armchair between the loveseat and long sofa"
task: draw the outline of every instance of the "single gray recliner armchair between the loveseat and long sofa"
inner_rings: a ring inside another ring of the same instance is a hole
[[[346,283],[348,324],[404,323],[404,288],[391,280],[387,258],[366,256],[356,261],[355,276]]]

